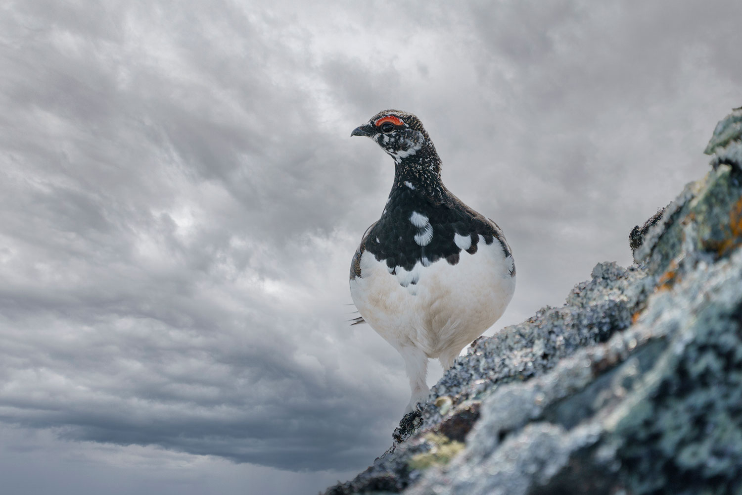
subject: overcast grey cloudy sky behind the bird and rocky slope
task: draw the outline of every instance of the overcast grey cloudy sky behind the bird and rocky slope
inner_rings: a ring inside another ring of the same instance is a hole
[[[404,366],[347,324],[377,111],[505,231],[491,334],[631,263],[742,105],[738,0],[293,3],[0,3],[7,493],[312,494],[390,445]]]

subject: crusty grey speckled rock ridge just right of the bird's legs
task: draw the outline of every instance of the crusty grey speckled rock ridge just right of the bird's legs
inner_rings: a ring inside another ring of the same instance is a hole
[[[651,289],[643,282],[646,272],[637,266],[599,263],[592,276],[574,286],[564,306],[539,309],[522,324],[479,338],[433,386],[433,395],[450,396],[454,404],[482,399],[502,384],[538,376],[576,350],[631,325]],[[441,420],[433,404],[422,414],[423,428]]]

